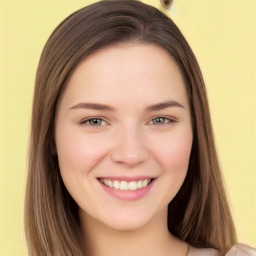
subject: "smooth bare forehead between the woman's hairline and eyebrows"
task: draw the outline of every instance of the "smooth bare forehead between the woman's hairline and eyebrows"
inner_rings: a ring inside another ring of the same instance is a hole
[[[160,46],[139,43],[113,45],[89,55],[75,69],[63,98],[67,104],[88,100],[147,104],[171,98],[187,103],[183,77],[172,57]]]

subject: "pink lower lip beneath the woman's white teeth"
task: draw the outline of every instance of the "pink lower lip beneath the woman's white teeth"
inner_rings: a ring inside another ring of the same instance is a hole
[[[152,188],[152,186],[155,183],[154,179],[153,181],[151,181],[151,183],[149,185],[147,185],[145,188],[141,188],[138,190],[119,190],[119,189],[114,189],[114,188],[110,188],[106,185],[104,185],[100,180],[99,183],[102,186],[102,188],[111,196],[118,198],[120,200],[129,200],[129,201],[135,201],[135,200],[139,200],[141,198],[143,198],[144,196],[147,195],[147,193],[150,191],[150,189]]]

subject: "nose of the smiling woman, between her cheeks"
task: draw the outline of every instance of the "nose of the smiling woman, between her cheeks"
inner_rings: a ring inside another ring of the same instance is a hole
[[[139,129],[120,129],[114,136],[110,158],[113,162],[134,167],[148,159],[148,149]]]

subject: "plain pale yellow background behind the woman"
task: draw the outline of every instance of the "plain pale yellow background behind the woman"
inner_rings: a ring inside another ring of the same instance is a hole
[[[95,1],[0,0],[0,256],[26,255],[23,202],[35,72],[52,30]],[[160,7],[159,0],[144,0]],[[256,245],[256,1],[174,0],[207,84],[239,241]],[[221,231],[220,231],[221,232]]]

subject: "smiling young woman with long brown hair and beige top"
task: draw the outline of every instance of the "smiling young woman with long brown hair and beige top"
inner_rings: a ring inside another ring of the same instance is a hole
[[[50,36],[36,77],[25,225],[33,256],[256,255],[232,247],[203,78],[157,9],[98,2]]]

